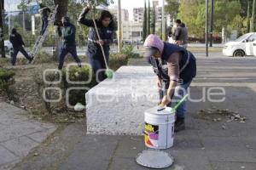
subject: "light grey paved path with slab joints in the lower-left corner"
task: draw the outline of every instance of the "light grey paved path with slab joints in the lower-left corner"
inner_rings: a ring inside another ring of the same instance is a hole
[[[0,170],[13,167],[55,129],[53,124],[30,120],[24,110],[0,103]]]

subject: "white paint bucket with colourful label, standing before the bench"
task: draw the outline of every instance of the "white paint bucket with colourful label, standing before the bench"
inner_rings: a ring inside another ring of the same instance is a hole
[[[173,145],[175,111],[170,107],[158,109],[155,106],[144,113],[144,141],[149,148],[167,149]]]

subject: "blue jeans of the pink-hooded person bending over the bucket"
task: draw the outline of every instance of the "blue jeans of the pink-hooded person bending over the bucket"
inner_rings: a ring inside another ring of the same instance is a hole
[[[170,103],[167,106],[172,106],[177,104],[177,102],[183,98],[188,93],[188,88],[191,84],[192,80],[189,82],[185,83],[178,83],[177,87],[175,88],[174,95],[172,97],[172,103]],[[160,94],[160,100],[163,98],[163,96],[166,94],[167,89],[169,88],[169,82],[163,82],[163,88],[160,89],[159,94]],[[187,112],[187,101],[185,100],[183,104],[179,105],[176,111],[177,117],[184,118]]]

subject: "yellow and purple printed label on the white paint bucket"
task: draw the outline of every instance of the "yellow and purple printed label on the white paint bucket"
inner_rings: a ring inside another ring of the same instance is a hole
[[[145,143],[154,146],[154,141],[159,139],[159,126],[145,122]]]

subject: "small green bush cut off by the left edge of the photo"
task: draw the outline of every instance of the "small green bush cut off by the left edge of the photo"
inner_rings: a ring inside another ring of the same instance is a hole
[[[10,88],[15,84],[15,72],[0,68],[0,90],[8,96],[9,99],[14,98],[14,90]]]

